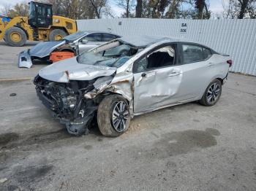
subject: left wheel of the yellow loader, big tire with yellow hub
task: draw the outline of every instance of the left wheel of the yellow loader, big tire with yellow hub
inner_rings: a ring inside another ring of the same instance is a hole
[[[22,47],[26,43],[26,33],[18,27],[7,29],[4,41],[12,47]]]

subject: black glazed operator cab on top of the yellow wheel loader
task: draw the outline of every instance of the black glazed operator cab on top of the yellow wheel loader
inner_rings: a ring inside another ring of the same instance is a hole
[[[29,26],[48,28],[53,25],[53,10],[51,4],[29,2]]]

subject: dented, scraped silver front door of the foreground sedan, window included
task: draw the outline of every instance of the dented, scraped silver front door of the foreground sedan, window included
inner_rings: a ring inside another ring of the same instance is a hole
[[[166,44],[134,63],[134,112],[157,109],[172,103],[179,90],[182,71],[176,66],[176,44]]]

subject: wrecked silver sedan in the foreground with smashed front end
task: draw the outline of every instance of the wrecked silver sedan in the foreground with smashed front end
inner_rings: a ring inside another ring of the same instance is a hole
[[[135,115],[190,101],[213,106],[231,65],[195,42],[129,36],[46,66],[34,85],[69,133],[88,132],[96,118],[102,135],[120,136]]]

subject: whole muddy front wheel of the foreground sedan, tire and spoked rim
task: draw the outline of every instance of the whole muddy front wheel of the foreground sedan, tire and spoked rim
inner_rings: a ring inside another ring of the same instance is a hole
[[[129,128],[129,104],[121,95],[108,95],[99,104],[99,130],[104,136],[120,136]]]

